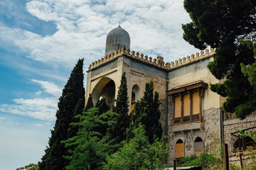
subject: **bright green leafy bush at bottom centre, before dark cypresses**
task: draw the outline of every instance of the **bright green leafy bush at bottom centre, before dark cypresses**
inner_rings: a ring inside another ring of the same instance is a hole
[[[133,133],[134,137],[129,142],[107,157],[105,169],[163,169],[169,147],[159,141],[150,144],[142,125],[138,125]]]

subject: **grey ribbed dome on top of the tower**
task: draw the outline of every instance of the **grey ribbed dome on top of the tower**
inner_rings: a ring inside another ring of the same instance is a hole
[[[118,26],[107,34],[105,56],[121,49],[123,46],[126,49],[130,47],[129,33],[121,28],[121,26]]]

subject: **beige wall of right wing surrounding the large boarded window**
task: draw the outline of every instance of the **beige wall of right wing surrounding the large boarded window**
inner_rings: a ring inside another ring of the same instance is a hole
[[[212,58],[206,58],[204,60],[188,64],[183,67],[179,67],[169,72],[169,87],[172,89],[177,86],[183,86],[195,81],[203,81],[208,84],[208,87],[203,92],[202,101],[202,116],[201,123],[183,123],[173,124],[173,110],[174,107],[169,99],[169,147],[170,160],[175,157],[175,143],[176,140],[181,139],[185,144],[185,156],[191,156],[194,154],[194,140],[196,137],[201,137],[203,140],[203,148],[206,152],[215,152],[215,147],[218,147],[217,143],[220,141],[220,107],[222,104],[222,98],[213,91],[210,91],[210,84],[219,83],[218,79],[215,79],[213,74],[207,68],[208,62],[213,60]]]

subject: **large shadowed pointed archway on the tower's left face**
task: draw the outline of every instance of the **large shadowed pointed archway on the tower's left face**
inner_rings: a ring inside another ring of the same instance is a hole
[[[102,77],[92,90],[92,101],[95,104],[100,97],[106,98],[107,104],[114,105],[115,84],[108,77]]]

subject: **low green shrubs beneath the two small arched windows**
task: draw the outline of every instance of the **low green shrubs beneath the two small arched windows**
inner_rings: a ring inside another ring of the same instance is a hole
[[[214,154],[208,154],[206,152],[201,153],[199,157],[191,156],[184,157],[181,159],[182,166],[202,166],[203,169],[210,169],[219,167],[221,165],[221,160],[214,157]]]

